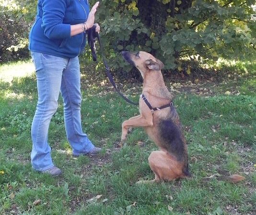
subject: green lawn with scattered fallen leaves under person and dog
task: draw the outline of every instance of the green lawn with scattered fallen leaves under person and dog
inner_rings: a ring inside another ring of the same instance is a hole
[[[191,79],[171,87],[174,80],[166,80],[185,130],[193,178],[142,185],[136,182],[154,177],[147,158],[156,146],[136,128],[119,147],[121,123],[137,115],[138,107],[88,75],[82,77],[82,127],[103,152],[97,158],[71,155],[60,98],[48,142],[63,174],[53,178],[32,170],[37,92],[31,68],[30,61],[0,65],[0,214],[256,214],[256,63],[229,65],[218,82]],[[134,86],[122,91],[138,101],[141,85]],[[202,179],[213,174],[241,174],[246,180]]]

